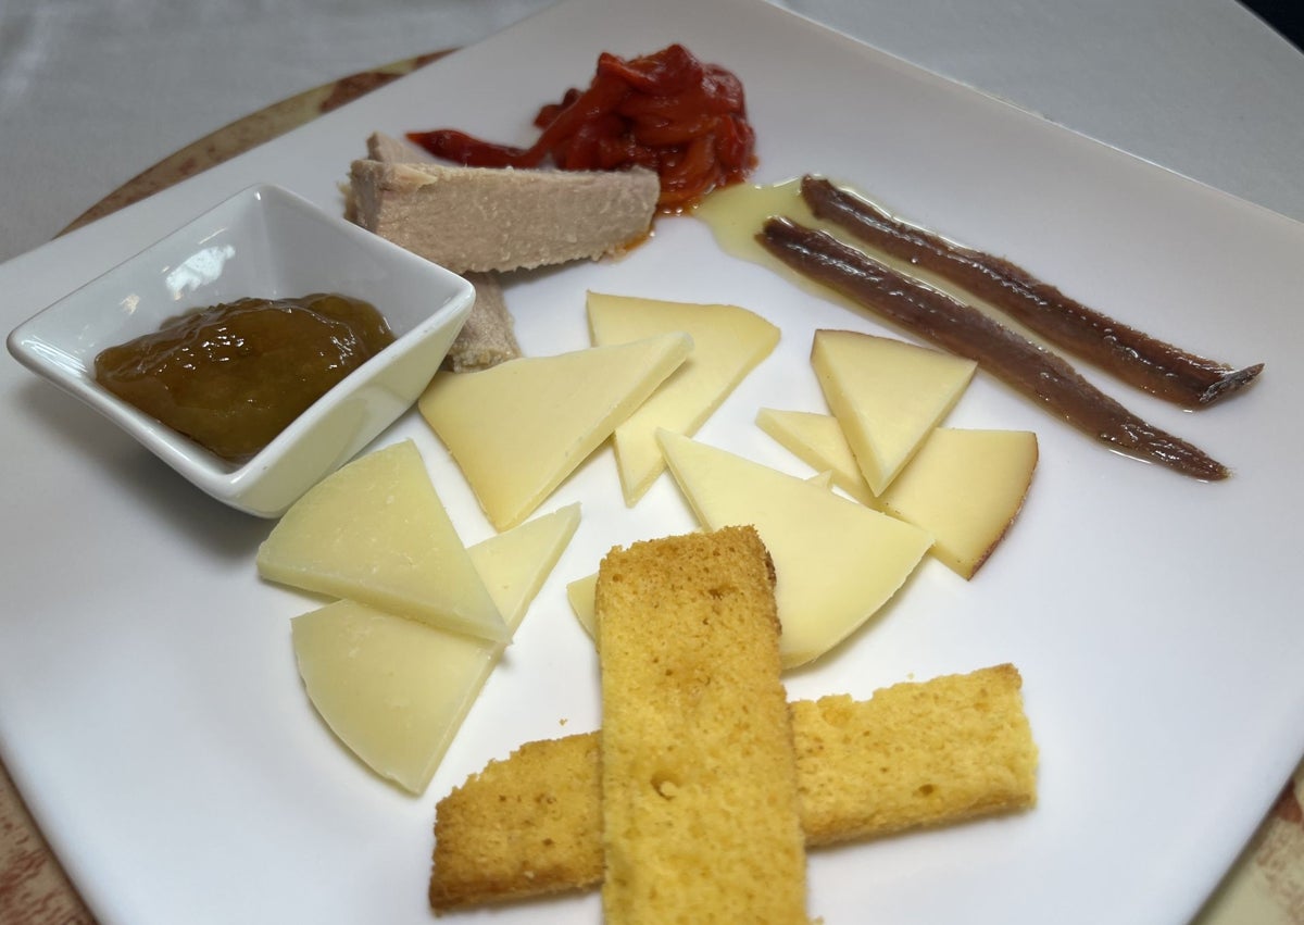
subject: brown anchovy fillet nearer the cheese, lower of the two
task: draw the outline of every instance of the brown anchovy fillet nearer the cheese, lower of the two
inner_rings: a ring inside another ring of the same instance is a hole
[[[756,240],[815,282],[958,356],[1034,398],[1077,429],[1120,453],[1196,479],[1231,472],[1179,437],[1146,424],[1088,382],[1061,357],[945,292],[888,269],[832,235],[771,218]]]

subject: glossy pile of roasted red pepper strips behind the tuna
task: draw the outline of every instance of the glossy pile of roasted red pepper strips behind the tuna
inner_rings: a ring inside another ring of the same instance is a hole
[[[562,170],[648,167],[661,177],[659,207],[692,207],[756,166],[742,82],[681,44],[623,60],[604,52],[592,82],[540,107],[529,147],[496,145],[456,129],[408,132],[438,158],[475,167]]]

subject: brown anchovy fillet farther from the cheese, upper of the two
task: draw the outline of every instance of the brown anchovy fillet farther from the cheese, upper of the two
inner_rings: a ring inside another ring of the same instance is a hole
[[[1051,343],[1170,402],[1188,408],[1211,404],[1252,382],[1264,368],[1260,363],[1232,369],[1188,354],[1088,308],[1007,260],[906,224],[825,179],[802,177],[802,197],[819,218],[936,273],[1008,312]]]

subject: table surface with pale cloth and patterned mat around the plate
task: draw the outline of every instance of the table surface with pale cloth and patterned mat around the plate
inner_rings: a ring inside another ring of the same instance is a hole
[[[408,59],[476,42],[545,5],[5,0],[0,262],[85,220],[96,204],[124,205],[419,64]],[[782,5],[1304,220],[1304,53],[1232,0]],[[342,74],[361,76],[336,81]],[[250,114],[259,115],[244,119]],[[1208,924],[1304,922],[1301,796],[1297,771],[1205,911]],[[0,921],[93,921],[3,772]]]

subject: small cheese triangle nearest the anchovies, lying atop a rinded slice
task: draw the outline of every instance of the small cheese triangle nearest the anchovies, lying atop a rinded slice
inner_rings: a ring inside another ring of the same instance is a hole
[[[811,364],[874,494],[947,416],[978,368],[973,360],[858,331],[815,331]]]

